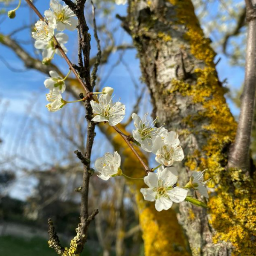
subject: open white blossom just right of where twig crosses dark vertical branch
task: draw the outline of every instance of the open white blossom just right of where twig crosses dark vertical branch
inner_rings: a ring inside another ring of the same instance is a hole
[[[93,108],[94,122],[109,122],[109,125],[115,126],[125,117],[125,105],[121,102],[112,102],[111,96],[107,93],[99,96],[99,103],[91,100],[90,105]]]

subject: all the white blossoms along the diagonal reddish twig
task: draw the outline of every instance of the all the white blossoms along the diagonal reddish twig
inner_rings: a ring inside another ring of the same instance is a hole
[[[125,4],[125,2],[126,0],[116,0],[117,4]],[[60,47],[67,53],[64,44],[67,43],[68,36],[63,31],[76,29],[77,19],[73,11],[65,4],[61,5],[58,0],[50,0],[50,9],[45,11],[44,15],[45,20],[38,20],[35,23],[35,32],[32,32],[32,37],[36,40],[35,48],[42,50],[43,63],[49,64],[55,53],[61,55]],[[70,71],[63,78],[55,70],[49,71],[50,77],[44,81],[45,87],[49,89],[46,95],[49,102],[46,107],[49,111],[58,111],[67,103],[71,103],[65,101],[61,95],[66,90],[65,80],[69,74]],[[125,117],[125,105],[119,101],[113,102],[112,93],[111,87],[104,87],[102,92],[91,93],[94,94],[93,99],[90,100],[94,114],[92,121],[108,122],[113,127],[122,122]],[[99,94],[99,97],[96,94]],[[134,129],[133,136],[130,138],[144,151],[154,154],[156,162],[159,163],[156,168],[146,170],[147,176],[142,178],[148,186],[148,188],[140,189],[144,199],[154,201],[157,211],[167,210],[172,207],[173,203],[180,203],[184,200],[192,203],[196,201],[196,205],[203,206],[204,203],[187,194],[189,189],[194,189],[208,198],[204,172],[192,172],[186,186],[177,186],[178,172],[173,164],[184,158],[178,134],[175,131],[168,131],[163,126],[156,127],[157,119],[148,121],[147,116],[148,113],[141,119],[137,113],[132,113]],[[108,152],[98,158],[95,168],[98,171],[98,177],[102,180],[109,180],[115,176],[131,178],[122,172],[121,157],[117,151],[113,154]]]

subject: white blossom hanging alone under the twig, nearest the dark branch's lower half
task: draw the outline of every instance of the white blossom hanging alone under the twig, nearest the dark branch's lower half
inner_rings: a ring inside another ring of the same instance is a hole
[[[121,157],[117,151],[115,151],[114,154],[108,152],[95,161],[95,168],[99,172],[97,176],[102,180],[108,180],[116,175],[121,175],[122,171],[120,165]]]

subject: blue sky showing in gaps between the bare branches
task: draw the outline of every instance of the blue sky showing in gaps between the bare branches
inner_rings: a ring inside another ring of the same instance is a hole
[[[48,4],[49,1],[45,0],[39,0],[36,2],[36,6],[41,12],[44,12],[44,10],[48,9]],[[17,17],[14,20],[9,20],[7,18],[3,20],[3,22],[0,24],[0,33],[8,34],[12,30],[17,29],[17,26],[23,26],[29,24],[29,21],[31,20],[37,20],[36,16],[30,9],[24,8],[25,5],[26,4],[23,1],[23,6],[17,11]],[[119,15],[125,15],[126,13],[126,6],[115,6],[115,8],[116,9],[112,16],[113,22],[111,22],[113,27],[119,23],[118,20],[115,20],[115,14],[118,13]],[[98,25],[100,25],[101,22],[102,20],[99,18],[99,20],[97,20]],[[91,34],[93,34],[92,31]],[[70,32],[68,35],[70,36],[70,40],[67,44],[67,48],[69,49],[68,55],[70,59],[75,62],[76,32]],[[30,37],[29,29],[18,33],[16,38],[18,41],[34,40]],[[131,43],[131,38],[126,35],[122,29],[119,29],[115,33],[115,38],[119,42]],[[35,49],[31,44],[22,45],[27,51],[34,54]],[[92,41],[91,55],[94,56],[95,53],[95,42]],[[109,70],[111,70],[112,65],[119,59],[119,54],[120,52],[112,54],[108,64],[104,65],[100,69],[99,74],[103,80]],[[0,45],[0,56],[8,61],[12,67],[23,70],[23,63],[15,56],[12,50]],[[238,89],[244,79],[244,70],[241,67],[231,67],[229,65],[228,59],[224,55],[217,55],[216,59],[218,59],[218,57],[221,57],[221,61],[217,66],[220,80],[223,81],[224,79],[228,79],[230,89]],[[136,50],[128,50],[125,53],[124,60],[129,64],[129,67],[131,67],[137,84],[140,85],[141,73],[139,60],[136,58]],[[55,57],[55,63],[58,64],[64,73],[67,72],[67,64],[60,57]],[[12,72],[5,66],[5,64],[3,64],[3,62],[0,61],[0,99],[1,102],[9,102],[9,107],[7,108],[5,119],[3,119],[0,128],[0,138],[2,138],[4,141],[1,148],[2,155],[12,154],[12,152],[15,152],[15,150],[16,152],[19,151],[20,154],[24,155],[26,155],[26,152],[30,152],[30,144],[23,144],[22,140],[19,143],[19,147],[17,148],[17,140],[19,140],[20,137],[29,137],[29,123],[32,123],[33,121],[29,112],[32,111],[35,113],[40,113],[41,118],[44,120],[49,120],[49,115],[55,114],[49,113],[45,108],[45,105],[47,104],[45,100],[45,93],[47,93],[47,89],[44,87],[45,77],[46,75],[41,74],[35,70],[28,70],[23,73]],[[131,113],[131,106],[134,105],[136,99],[134,97],[134,85],[132,84],[131,77],[124,65],[119,64],[115,70],[113,70],[105,86],[111,86],[115,89],[116,99],[121,98],[121,102],[127,106],[128,117],[128,115]],[[228,103],[230,104],[231,111],[237,115],[239,111],[234,107],[230,100],[228,100]],[[149,96],[147,95],[142,102],[141,113],[150,111],[150,109],[151,107],[149,103]],[[3,111],[3,105],[0,105],[0,113],[1,111]],[[20,130],[20,125],[24,125],[24,123],[25,126],[23,127],[23,130]],[[97,132],[97,134],[99,134],[99,132]],[[98,139],[100,138],[101,137],[98,137]],[[33,155],[28,153],[26,157],[33,158]],[[47,161],[49,160],[48,157],[49,156],[45,154],[42,159]],[[96,155],[93,157],[95,158]],[[17,183],[16,188],[12,190],[13,196],[19,196],[20,198],[23,198],[25,195],[27,195],[27,192],[20,193],[20,184],[23,184],[23,182],[24,180],[20,180],[20,182]],[[32,181],[32,184],[34,185],[35,181]],[[26,187],[26,189],[28,189],[28,187]]]

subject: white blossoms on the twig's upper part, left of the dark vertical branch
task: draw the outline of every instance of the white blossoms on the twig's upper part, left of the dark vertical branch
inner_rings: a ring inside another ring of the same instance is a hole
[[[38,20],[35,23],[35,32],[32,37],[35,39],[35,48],[42,50],[43,64],[49,64],[55,53],[61,56],[57,44],[67,53],[64,44],[68,41],[68,36],[63,32],[65,29],[74,30],[77,26],[77,19],[74,12],[65,4],[61,5],[58,0],[50,0],[50,9],[44,12],[45,20]],[[56,32],[57,31],[57,32]],[[55,112],[67,104],[62,99],[61,93],[66,90],[65,78],[56,71],[49,71],[50,77],[44,81],[44,85],[49,89],[46,99],[49,104],[47,109]]]

